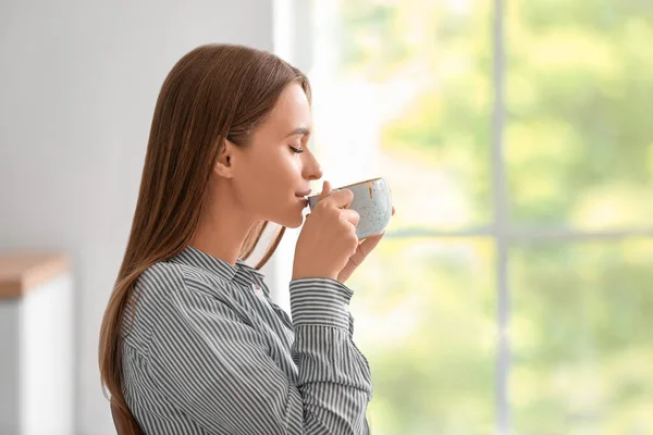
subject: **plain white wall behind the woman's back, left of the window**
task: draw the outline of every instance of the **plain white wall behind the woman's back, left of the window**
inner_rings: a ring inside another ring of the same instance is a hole
[[[73,258],[81,434],[115,433],[97,337],[159,88],[214,41],[271,50],[272,1],[0,0],[0,250]]]

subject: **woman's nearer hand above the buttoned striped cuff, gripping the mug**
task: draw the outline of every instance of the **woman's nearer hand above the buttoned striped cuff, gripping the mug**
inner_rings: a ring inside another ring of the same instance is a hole
[[[293,279],[338,279],[349,259],[359,249],[356,225],[360,216],[347,209],[354,200],[354,194],[346,189],[334,194],[331,191],[331,185],[324,182],[318,203],[306,216],[295,248]]]

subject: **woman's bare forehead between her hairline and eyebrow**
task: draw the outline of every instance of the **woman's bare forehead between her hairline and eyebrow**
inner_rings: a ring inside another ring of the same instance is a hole
[[[310,105],[306,94],[299,84],[293,83],[282,91],[270,117],[261,125],[261,129],[285,136],[297,127],[309,128],[310,124]]]

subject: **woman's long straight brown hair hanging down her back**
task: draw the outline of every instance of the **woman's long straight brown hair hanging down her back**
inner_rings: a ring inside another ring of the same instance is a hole
[[[124,259],[100,330],[99,363],[111,401],[131,420],[122,384],[122,319],[138,276],[182,251],[195,233],[207,186],[224,140],[247,146],[291,83],[310,86],[297,69],[266,51],[234,45],[201,46],[168,74],[150,129],[140,190]],[[255,224],[239,257],[247,259],[268,226]],[[256,265],[272,256],[284,227]]]

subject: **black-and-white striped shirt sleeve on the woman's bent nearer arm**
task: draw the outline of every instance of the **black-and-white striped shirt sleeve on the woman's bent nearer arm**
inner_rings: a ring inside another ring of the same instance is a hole
[[[291,283],[296,384],[227,302],[193,289],[168,295],[165,327],[152,332],[150,376],[208,433],[369,434],[371,374],[349,334],[352,291],[344,285]]]

